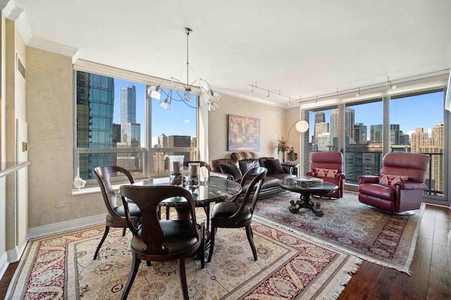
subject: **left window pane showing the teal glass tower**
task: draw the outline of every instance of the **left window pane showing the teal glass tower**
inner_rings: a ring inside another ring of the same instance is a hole
[[[75,72],[75,165],[93,181],[92,169],[120,165],[144,176],[144,85],[82,71]],[[138,108],[138,109],[137,109]]]

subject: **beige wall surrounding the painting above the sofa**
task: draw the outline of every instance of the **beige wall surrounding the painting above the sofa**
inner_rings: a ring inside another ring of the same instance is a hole
[[[209,113],[209,161],[230,158],[228,151],[228,115],[260,119],[259,156],[277,155],[277,139],[285,135],[285,109],[259,104],[235,96],[221,95],[219,108]]]

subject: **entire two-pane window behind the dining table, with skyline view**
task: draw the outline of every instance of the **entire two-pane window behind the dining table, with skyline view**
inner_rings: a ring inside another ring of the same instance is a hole
[[[167,176],[170,155],[197,160],[197,96],[187,103],[175,99],[163,109],[147,96],[145,83],[82,70],[74,74],[74,176],[97,185],[93,168],[119,165],[144,179]],[[162,100],[170,93],[163,90]]]

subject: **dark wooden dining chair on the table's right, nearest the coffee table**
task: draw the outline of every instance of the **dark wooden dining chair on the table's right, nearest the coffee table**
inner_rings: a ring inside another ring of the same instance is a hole
[[[244,198],[235,196],[235,198],[233,198],[229,202],[220,202],[213,206],[213,209],[211,210],[211,238],[208,262],[211,261],[211,256],[213,256],[214,239],[218,227],[245,227],[247,240],[249,241],[252,249],[252,254],[254,255],[254,261],[257,261],[257,250],[255,249],[254,245],[251,221],[255,205],[257,204],[257,199],[259,198],[261,185],[263,185],[267,172],[268,169],[263,167],[252,168],[251,170],[248,170],[243,176],[242,182],[246,182],[246,180],[250,177],[253,178],[249,183],[249,187],[247,187]],[[255,190],[254,187],[256,187]],[[252,194],[253,190],[254,195],[252,196],[252,201],[248,204],[250,195]]]

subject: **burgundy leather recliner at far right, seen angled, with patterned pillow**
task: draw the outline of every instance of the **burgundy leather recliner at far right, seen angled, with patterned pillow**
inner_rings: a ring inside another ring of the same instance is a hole
[[[359,201],[392,213],[419,209],[428,163],[424,154],[385,154],[380,176],[359,176]]]

